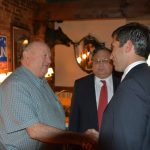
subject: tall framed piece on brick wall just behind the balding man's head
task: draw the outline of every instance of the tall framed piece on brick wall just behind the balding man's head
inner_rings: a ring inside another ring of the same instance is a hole
[[[20,66],[22,50],[30,41],[30,30],[13,26],[13,70]]]

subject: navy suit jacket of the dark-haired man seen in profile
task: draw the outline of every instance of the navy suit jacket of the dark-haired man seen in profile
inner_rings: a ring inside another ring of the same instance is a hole
[[[150,150],[150,69],[135,66],[103,115],[100,150]]]

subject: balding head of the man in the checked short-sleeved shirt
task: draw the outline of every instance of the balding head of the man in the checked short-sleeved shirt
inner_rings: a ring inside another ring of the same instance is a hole
[[[44,77],[51,64],[50,48],[42,41],[30,43],[22,53],[21,64],[37,77]]]

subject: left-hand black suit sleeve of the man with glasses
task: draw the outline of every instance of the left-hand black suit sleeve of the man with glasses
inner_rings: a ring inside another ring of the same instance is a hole
[[[69,119],[69,130],[70,131],[76,131],[79,130],[79,101],[80,101],[80,95],[79,95],[79,88],[77,81],[75,81],[74,84],[74,91],[71,101],[71,112],[70,112],[70,119]]]

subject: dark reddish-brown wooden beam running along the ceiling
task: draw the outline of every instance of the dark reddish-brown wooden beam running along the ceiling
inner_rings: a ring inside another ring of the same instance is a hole
[[[147,0],[95,0],[40,4],[35,11],[36,21],[150,18],[150,2]]]

